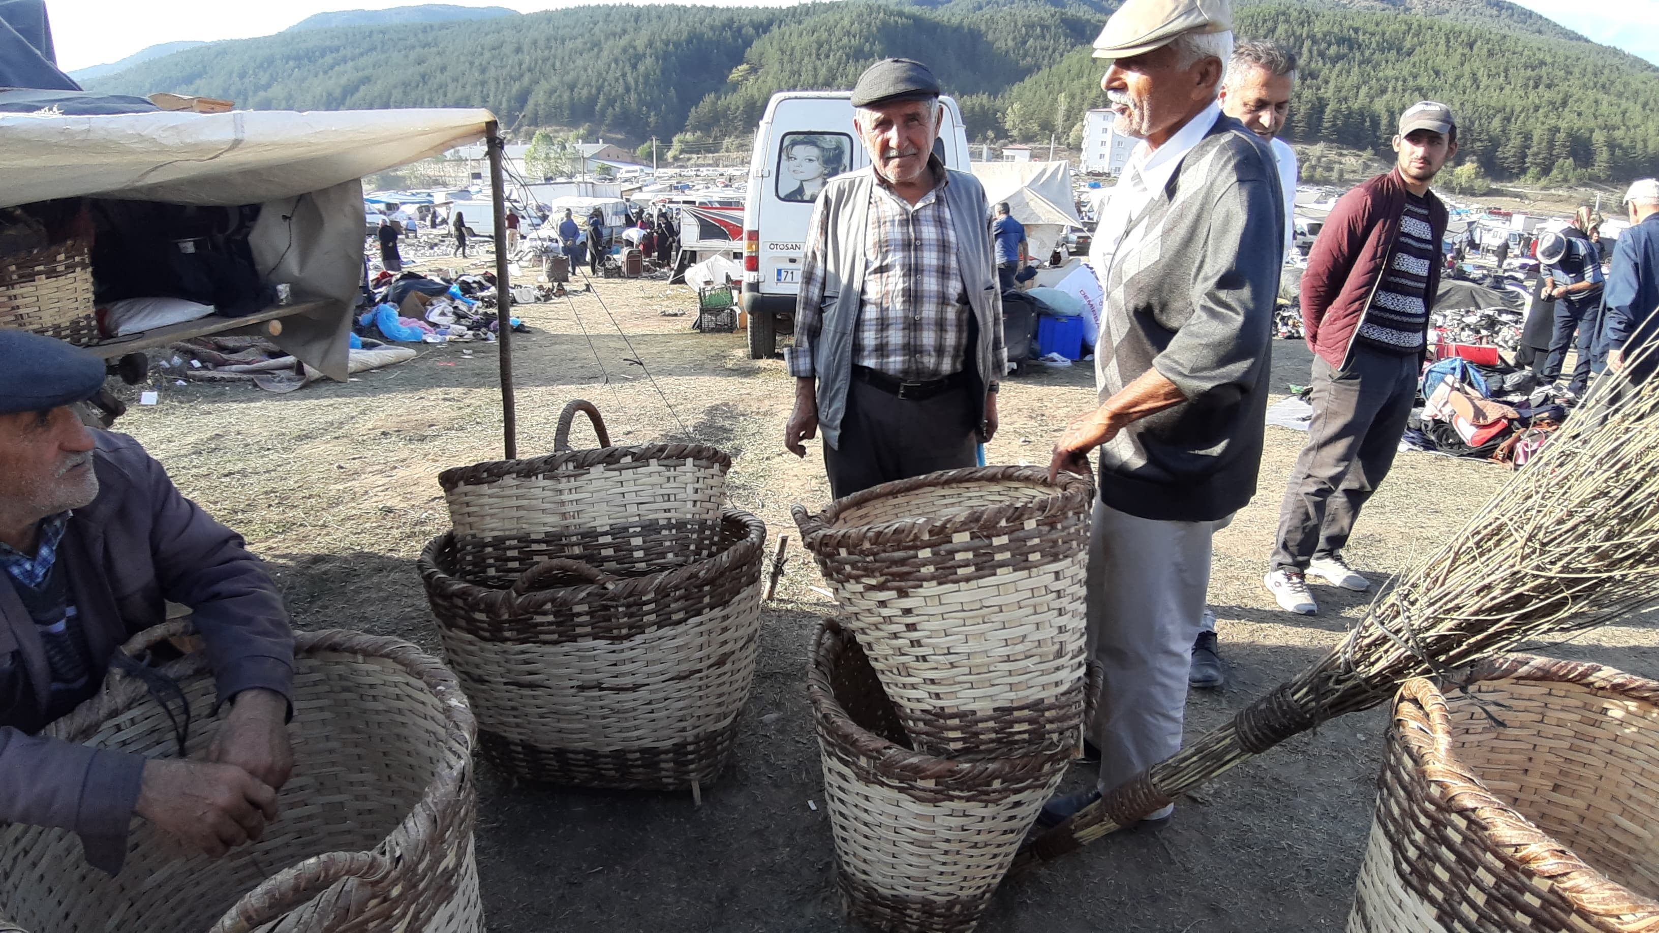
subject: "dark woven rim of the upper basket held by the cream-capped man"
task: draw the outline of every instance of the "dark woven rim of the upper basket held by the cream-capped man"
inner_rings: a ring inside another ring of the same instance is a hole
[[[834,528],[834,521],[849,510],[859,508],[888,496],[912,493],[936,486],[952,486],[961,483],[995,483],[1027,481],[1053,488],[1053,495],[1040,500],[1025,500],[1004,505],[985,505],[962,510],[949,518],[899,518],[878,525],[853,525]],[[1060,473],[1050,483],[1048,471],[1042,466],[964,466],[961,470],[941,470],[909,480],[894,480],[868,490],[856,491],[830,503],[818,515],[810,515],[806,506],[796,503],[791,508],[795,525],[801,530],[801,543],[815,553],[833,553],[841,548],[881,543],[891,546],[893,541],[936,538],[942,535],[959,535],[962,531],[1002,530],[1029,520],[1044,520],[1060,515],[1087,511],[1095,498],[1093,476]]]

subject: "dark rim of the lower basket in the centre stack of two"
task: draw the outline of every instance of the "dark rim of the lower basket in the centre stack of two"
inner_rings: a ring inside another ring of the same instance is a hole
[[[843,629],[834,619],[825,619],[813,642],[813,662],[806,669],[806,694],[811,697],[820,734],[841,750],[868,759],[881,777],[896,782],[926,780],[941,787],[977,787],[1045,777],[1053,772],[1053,762],[1070,760],[1075,755],[1075,749],[1063,747],[1010,759],[954,760],[916,752],[876,735],[848,716],[834,699],[834,686],[830,682],[841,652],[853,641],[851,631]]]

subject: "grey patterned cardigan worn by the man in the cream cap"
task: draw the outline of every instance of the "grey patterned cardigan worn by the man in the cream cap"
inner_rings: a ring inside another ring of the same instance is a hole
[[[1130,219],[1095,347],[1105,402],[1148,369],[1186,402],[1100,448],[1100,496],[1158,521],[1216,521],[1256,495],[1284,194],[1272,151],[1221,116]]]

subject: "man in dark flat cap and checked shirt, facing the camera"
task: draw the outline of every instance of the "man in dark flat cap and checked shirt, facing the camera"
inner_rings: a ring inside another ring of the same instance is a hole
[[[825,184],[801,261],[783,445],[825,435],[836,498],[974,466],[1007,372],[990,206],[934,154],[939,81],[907,58],[853,88],[869,168]]]

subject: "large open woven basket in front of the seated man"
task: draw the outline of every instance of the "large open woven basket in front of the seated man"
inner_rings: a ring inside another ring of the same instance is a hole
[[[169,623],[123,651],[187,631]],[[191,704],[187,750],[217,730],[202,651],[163,667]],[[119,674],[48,734],[146,757],[176,754],[173,724]],[[0,916],[35,933],[478,933],[473,862],[473,716],[438,661],[415,646],[345,631],[295,646],[294,775],[260,842],[221,860],[133,822],[114,878],[66,830],[0,828]],[[0,920],[0,930],[8,930]]]

